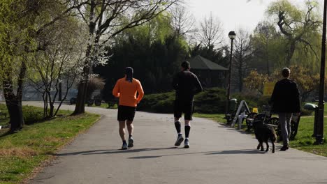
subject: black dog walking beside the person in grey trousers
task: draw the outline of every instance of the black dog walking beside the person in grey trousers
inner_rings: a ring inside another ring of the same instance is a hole
[[[263,121],[255,121],[253,122],[254,134],[256,135],[256,139],[258,139],[259,144],[256,149],[263,151],[263,142],[266,142],[267,148],[266,151],[269,151],[268,139],[270,139],[273,144],[273,153],[275,153],[275,141],[277,139],[277,135],[273,127],[270,127],[266,124],[263,124]]]

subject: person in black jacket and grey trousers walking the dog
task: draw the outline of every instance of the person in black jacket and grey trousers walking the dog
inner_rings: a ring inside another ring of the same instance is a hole
[[[298,85],[289,79],[291,70],[283,68],[284,79],[275,84],[270,103],[273,104],[272,112],[279,116],[279,123],[282,131],[283,146],[280,151],[289,149],[289,136],[291,134],[292,113],[300,113],[300,97]]]

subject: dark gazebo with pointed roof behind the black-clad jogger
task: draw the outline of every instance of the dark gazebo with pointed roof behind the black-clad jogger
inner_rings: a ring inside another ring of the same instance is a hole
[[[191,72],[194,72],[198,76],[203,87],[212,88],[223,87],[225,85],[228,68],[219,66],[217,63],[205,59],[200,55],[192,58],[189,63],[191,63]]]

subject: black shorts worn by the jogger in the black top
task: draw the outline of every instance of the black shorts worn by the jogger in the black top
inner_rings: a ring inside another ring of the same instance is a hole
[[[185,120],[192,120],[192,114],[194,110],[193,102],[184,102],[180,100],[175,100],[174,103],[174,117],[180,118],[182,117],[182,113],[184,112]]]

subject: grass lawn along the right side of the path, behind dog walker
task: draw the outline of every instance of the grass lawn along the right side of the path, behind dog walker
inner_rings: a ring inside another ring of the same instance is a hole
[[[326,108],[325,108],[326,109]],[[210,118],[219,123],[226,123],[224,119],[224,114],[197,114],[194,116],[199,118]],[[236,125],[237,126],[237,125]],[[314,117],[313,116],[302,116],[300,119],[300,124],[298,125],[298,134],[295,139],[290,141],[291,148],[296,148],[301,151],[306,151],[309,153],[314,153],[317,155],[323,155],[327,157],[327,143],[325,141],[322,145],[314,145],[313,134],[314,128]],[[245,121],[242,124],[242,130],[246,130]],[[250,132],[253,133],[253,132]],[[324,137],[327,139],[327,118],[324,119]]]

